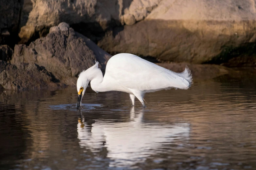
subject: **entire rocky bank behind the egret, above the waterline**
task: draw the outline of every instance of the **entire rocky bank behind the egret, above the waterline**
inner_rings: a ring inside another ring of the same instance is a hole
[[[3,0],[0,86],[75,86],[94,60],[104,72],[123,52],[175,72],[188,65],[194,79],[232,74],[256,66],[254,11],[249,0]]]

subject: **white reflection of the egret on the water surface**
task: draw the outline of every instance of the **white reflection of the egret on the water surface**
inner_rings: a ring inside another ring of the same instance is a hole
[[[110,122],[85,120],[80,112],[77,124],[79,145],[97,154],[102,150],[111,160],[110,166],[121,167],[145,161],[152,150],[188,140],[189,123],[148,123],[143,120],[144,110],[130,110],[130,121]]]

